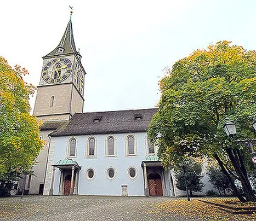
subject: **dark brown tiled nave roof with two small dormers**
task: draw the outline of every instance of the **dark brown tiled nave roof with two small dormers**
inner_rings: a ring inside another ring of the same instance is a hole
[[[96,135],[105,133],[144,132],[157,108],[76,113],[69,123],[50,136]]]

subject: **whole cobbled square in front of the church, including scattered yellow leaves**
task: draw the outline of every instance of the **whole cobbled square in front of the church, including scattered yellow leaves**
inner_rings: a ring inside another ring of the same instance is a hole
[[[207,198],[204,198],[207,200]],[[237,199],[212,198],[220,203]],[[252,203],[251,203],[252,204]],[[247,205],[248,206],[248,205]],[[0,220],[256,220],[198,199],[121,196],[20,196],[0,198]]]

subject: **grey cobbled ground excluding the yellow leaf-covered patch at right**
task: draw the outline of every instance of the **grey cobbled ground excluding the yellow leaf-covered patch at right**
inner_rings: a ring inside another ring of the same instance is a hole
[[[169,197],[19,196],[0,198],[0,220],[186,220],[149,211]]]

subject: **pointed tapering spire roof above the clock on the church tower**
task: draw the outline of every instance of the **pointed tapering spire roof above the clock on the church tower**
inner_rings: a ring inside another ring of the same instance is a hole
[[[77,55],[79,55],[79,52],[76,50],[75,40],[73,37],[71,16],[70,16],[69,23],[67,24],[66,30],[60,40],[60,43],[58,44],[58,46],[56,46],[56,48],[52,52],[45,55],[44,57],[56,56],[59,54],[61,54],[61,55],[77,54]]]

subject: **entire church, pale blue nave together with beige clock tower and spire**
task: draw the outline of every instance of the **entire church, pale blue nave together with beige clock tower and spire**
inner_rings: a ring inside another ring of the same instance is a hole
[[[85,75],[70,18],[59,45],[43,57],[33,114],[43,121],[47,144],[33,166],[29,194],[183,194],[147,139],[157,108],[83,113]]]

